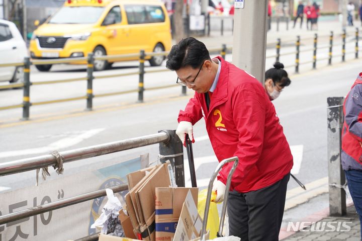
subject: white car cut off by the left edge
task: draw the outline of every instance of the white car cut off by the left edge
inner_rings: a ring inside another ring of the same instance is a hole
[[[0,19],[0,64],[24,62],[28,51],[23,37],[12,22]],[[0,67],[0,82],[23,82],[24,67]]]

